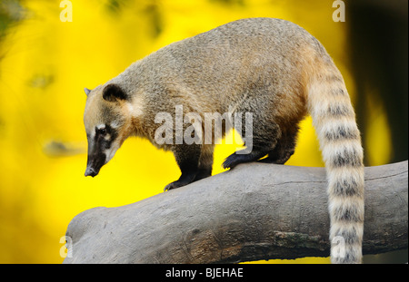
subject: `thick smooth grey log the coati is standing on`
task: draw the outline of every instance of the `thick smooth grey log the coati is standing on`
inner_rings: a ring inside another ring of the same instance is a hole
[[[407,160],[365,168],[364,254],[407,248],[407,177]],[[324,168],[242,164],[134,204],[85,210],[68,226],[64,262],[328,257],[328,230]]]

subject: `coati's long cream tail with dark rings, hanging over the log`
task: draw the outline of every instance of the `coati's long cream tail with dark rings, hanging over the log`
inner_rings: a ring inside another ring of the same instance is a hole
[[[344,79],[334,63],[308,83],[307,103],[328,180],[333,263],[361,263],[364,235],[364,151]],[[329,71],[330,70],[330,71]]]

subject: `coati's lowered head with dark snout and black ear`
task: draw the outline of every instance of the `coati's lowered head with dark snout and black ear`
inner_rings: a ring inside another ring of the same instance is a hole
[[[130,135],[131,118],[126,111],[127,95],[115,83],[85,88],[84,124],[88,140],[85,176],[98,174]]]

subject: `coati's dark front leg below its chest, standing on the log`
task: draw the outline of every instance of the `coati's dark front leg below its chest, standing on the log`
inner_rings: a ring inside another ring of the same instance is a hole
[[[199,171],[201,147],[201,145],[197,144],[175,145],[175,148],[172,151],[174,152],[177,165],[179,166],[182,175],[178,180],[167,184],[164,189],[165,191],[182,187],[195,181],[195,177]]]

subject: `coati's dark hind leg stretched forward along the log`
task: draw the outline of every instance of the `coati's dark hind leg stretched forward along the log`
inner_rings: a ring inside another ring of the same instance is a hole
[[[270,151],[274,150],[280,137],[281,130],[275,123],[271,123],[269,128],[254,128],[252,151],[250,153],[243,153],[244,151],[234,152],[224,160],[224,169],[233,169],[239,163],[256,161],[263,158]]]

